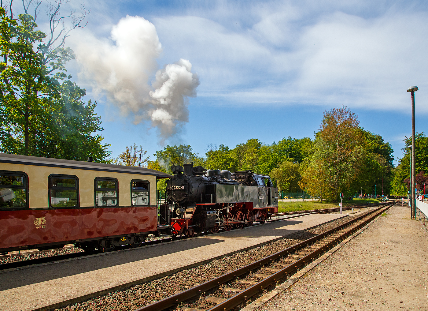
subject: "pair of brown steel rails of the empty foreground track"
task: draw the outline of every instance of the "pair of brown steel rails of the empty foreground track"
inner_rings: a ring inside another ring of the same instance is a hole
[[[395,203],[395,201],[391,203],[391,206],[394,203]],[[238,269],[233,270],[231,272],[228,272],[226,274],[220,275],[217,278],[206,281],[205,283],[196,285],[195,287],[189,288],[188,290],[184,290],[184,291],[177,293],[175,295],[172,295],[172,296],[166,297],[164,299],[158,300],[158,301],[153,302],[149,305],[145,305],[144,307],[138,308],[135,311],[160,311],[160,310],[165,310],[167,308],[170,308],[170,307],[176,305],[178,302],[183,302],[187,299],[191,299],[197,295],[200,295],[203,292],[206,292],[208,290],[213,289],[214,287],[217,287],[220,284],[224,284],[228,281],[232,281],[233,279],[235,279],[241,275],[247,274],[252,270],[258,269],[267,263],[271,263],[273,260],[277,260],[280,257],[285,257],[288,254],[293,253],[293,252],[305,247],[306,245],[312,244],[313,242],[315,242],[317,240],[323,239],[325,236],[329,236],[330,234],[332,234],[338,230],[341,230],[344,227],[347,227],[347,226],[349,226],[349,225],[351,225],[357,221],[360,221],[362,218],[365,218],[365,217],[367,217],[373,213],[376,213],[380,209],[382,209],[381,212],[383,212],[386,209],[389,209],[389,207],[391,207],[391,206],[387,206],[387,207],[380,206],[377,209],[374,209],[374,210],[372,210],[372,211],[370,211],[364,215],[360,215],[360,216],[358,216],[358,217],[356,217],[350,221],[345,222],[344,224],[339,225],[338,227],[330,229],[324,233],[318,234],[317,236],[314,236],[314,237],[307,239],[303,242],[295,244],[291,247],[288,247],[288,248],[286,248],[282,251],[279,251],[275,254],[272,254],[268,257],[257,260],[253,263],[248,264],[247,266],[238,268]],[[340,237],[351,235],[351,232],[353,233],[354,231],[359,230],[357,228],[360,228],[361,226],[365,225],[367,222],[369,222],[373,218],[377,217],[378,214],[379,213],[370,217],[366,221],[363,221],[361,224],[358,224],[357,226],[353,227],[351,230],[348,230],[346,233],[343,233]],[[271,275],[270,277],[265,278],[264,280],[262,280],[259,283],[247,288],[246,290],[243,290],[241,293],[238,293],[237,295],[225,300],[224,302],[220,303],[219,305],[214,306],[213,308],[209,309],[209,311],[224,311],[224,310],[230,310],[232,308],[235,308],[235,306],[237,306],[240,303],[242,303],[243,301],[245,301],[246,297],[254,296],[259,291],[267,288],[273,282],[279,281],[281,278],[283,278],[285,275],[287,275],[291,271],[296,270],[297,268],[299,268],[303,264],[309,263],[309,259],[312,260],[312,258],[318,257],[318,254],[325,252],[325,249],[327,249],[327,248],[330,249],[331,248],[330,246],[333,245],[334,243],[336,243],[336,241],[338,241],[338,239],[339,238],[333,239],[331,242],[327,243],[326,245],[322,246],[321,248],[318,248],[317,250],[313,251],[309,255],[297,260],[296,262],[291,263],[289,266],[285,267],[284,269],[281,269],[280,271],[276,272],[275,274]]]

